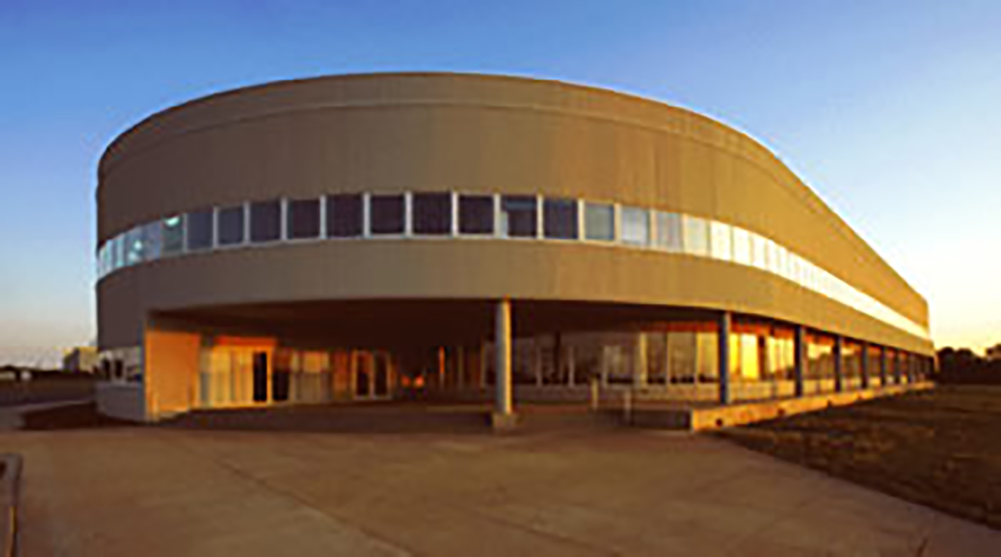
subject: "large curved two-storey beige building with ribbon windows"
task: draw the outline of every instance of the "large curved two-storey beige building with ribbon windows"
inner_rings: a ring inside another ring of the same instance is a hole
[[[568,83],[373,74],[167,109],[99,167],[103,412],[740,401],[932,366],[928,307],[767,148]],[[886,207],[892,210],[893,207]]]

